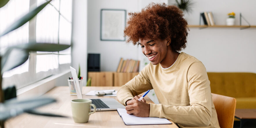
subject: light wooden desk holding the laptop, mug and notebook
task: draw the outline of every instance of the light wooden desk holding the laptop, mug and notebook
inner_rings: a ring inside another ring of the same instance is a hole
[[[103,90],[103,89],[115,89],[119,90],[120,87],[83,87],[83,97],[87,99],[93,98],[110,98],[110,97],[97,97],[97,96],[86,96],[90,90]],[[57,103],[49,104],[38,108],[38,110],[49,113],[56,113],[66,115],[69,118],[59,117],[46,117],[37,116],[24,113],[15,118],[11,118],[6,121],[6,128],[113,128],[113,127],[130,127],[130,128],[147,128],[147,127],[161,127],[161,128],[177,128],[173,124],[171,125],[125,125],[122,118],[118,115],[117,111],[97,111],[90,115],[87,123],[75,123],[72,119],[71,104],[72,99],[77,99],[76,95],[69,94],[69,88],[67,86],[55,87],[45,95],[49,95],[57,99]],[[116,97],[112,97],[117,99]],[[145,97],[147,102],[152,101]]]

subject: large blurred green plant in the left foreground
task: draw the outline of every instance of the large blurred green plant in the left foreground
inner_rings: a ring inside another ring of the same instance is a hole
[[[0,8],[6,5],[9,0],[1,0]],[[37,8],[31,10],[29,13],[18,19],[16,22],[10,25],[3,33],[0,33],[0,38],[3,35],[19,28],[24,25],[35,15],[37,15],[51,0],[46,1]],[[33,110],[39,106],[56,102],[56,99],[49,97],[36,97],[28,98],[26,100],[17,100],[15,86],[10,86],[6,89],[2,89],[2,76],[3,72],[11,70],[19,65],[22,65],[28,58],[30,51],[61,51],[67,49],[70,45],[58,45],[51,43],[36,43],[30,42],[27,44],[14,45],[7,47],[4,51],[0,52],[0,126],[4,127],[4,120],[10,117],[19,115],[23,112],[32,113],[36,115],[47,115],[47,116],[61,116],[51,113],[41,113]]]

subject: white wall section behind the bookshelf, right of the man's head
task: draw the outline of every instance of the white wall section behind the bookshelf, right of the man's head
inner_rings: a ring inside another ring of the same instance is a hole
[[[198,25],[203,11],[212,11],[217,25],[225,25],[227,13],[236,13],[235,24],[239,25],[239,13],[256,25],[256,1],[250,0],[193,0],[193,12],[185,13],[189,24]],[[169,4],[175,0],[169,0]],[[242,20],[242,25],[247,25]],[[239,28],[191,28],[188,36],[187,54],[204,63],[208,72],[255,72],[256,29]]]

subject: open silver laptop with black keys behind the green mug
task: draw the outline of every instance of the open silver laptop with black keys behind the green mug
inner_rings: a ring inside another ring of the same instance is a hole
[[[81,86],[78,81],[77,71],[73,67],[70,66],[71,74],[74,80],[74,86],[76,89],[78,99],[83,99]],[[120,104],[113,98],[102,98],[102,99],[90,99],[92,100],[92,104],[95,104],[96,111],[113,111],[117,110],[118,108],[125,108],[124,105]],[[93,109],[91,108],[91,111]]]

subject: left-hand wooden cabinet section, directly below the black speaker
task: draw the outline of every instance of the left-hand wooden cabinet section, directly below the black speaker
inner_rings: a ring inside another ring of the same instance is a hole
[[[88,72],[91,86],[113,86],[113,72]]]

